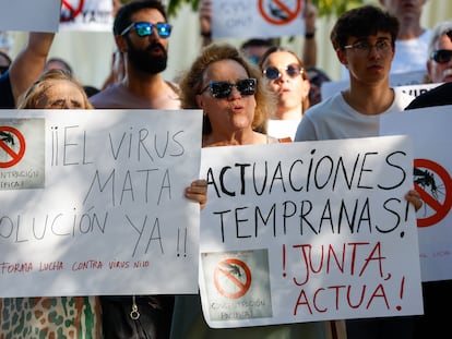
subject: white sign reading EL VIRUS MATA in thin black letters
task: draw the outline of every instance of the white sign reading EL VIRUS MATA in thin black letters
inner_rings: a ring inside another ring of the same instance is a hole
[[[0,295],[195,293],[197,110],[3,110]]]

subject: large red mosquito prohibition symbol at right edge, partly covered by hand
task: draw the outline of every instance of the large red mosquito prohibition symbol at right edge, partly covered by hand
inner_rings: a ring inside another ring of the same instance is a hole
[[[426,218],[418,218],[418,227],[435,226],[441,221],[452,206],[452,179],[448,171],[439,164],[429,159],[414,160],[414,186],[424,204],[433,210]],[[438,181],[438,179],[440,181]],[[442,183],[441,183],[442,182]]]

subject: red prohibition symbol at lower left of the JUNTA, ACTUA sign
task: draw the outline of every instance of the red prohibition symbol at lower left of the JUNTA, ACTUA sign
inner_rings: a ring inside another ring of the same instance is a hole
[[[243,296],[251,287],[251,270],[242,261],[224,259],[215,268],[214,283],[224,296],[238,299]]]

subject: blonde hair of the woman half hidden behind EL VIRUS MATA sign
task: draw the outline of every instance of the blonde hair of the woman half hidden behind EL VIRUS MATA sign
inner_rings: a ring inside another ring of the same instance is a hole
[[[37,81],[33,83],[28,89],[20,96],[17,100],[17,109],[33,109],[41,106],[43,100],[46,99],[46,92],[50,87],[52,81],[70,81],[79,87],[83,94],[83,109],[93,109],[93,105],[88,101],[85,89],[68,71],[60,69],[52,69],[44,72]]]

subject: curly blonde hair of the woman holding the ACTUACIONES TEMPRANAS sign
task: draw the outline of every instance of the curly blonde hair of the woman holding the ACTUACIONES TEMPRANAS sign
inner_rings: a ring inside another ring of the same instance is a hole
[[[195,98],[202,89],[203,75],[212,63],[221,60],[235,60],[243,66],[249,77],[257,78],[258,85],[254,94],[257,106],[252,129],[261,133],[266,133],[266,123],[271,116],[270,113],[276,109],[276,97],[262,81],[262,72],[255,65],[248,62],[247,58],[229,44],[212,44],[206,46],[194,60],[191,68],[182,75],[180,80],[181,107],[190,109],[200,108]],[[209,117],[204,114],[203,134],[210,134],[211,132],[211,122]]]

